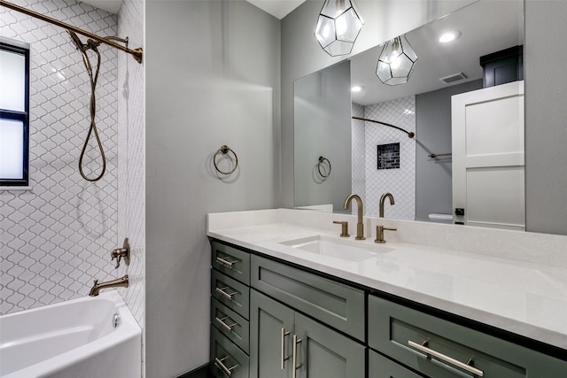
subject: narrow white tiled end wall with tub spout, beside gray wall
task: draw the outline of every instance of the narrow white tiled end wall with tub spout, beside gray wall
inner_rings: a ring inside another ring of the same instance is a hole
[[[144,45],[144,1],[125,0],[118,17],[118,32],[128,36],[132,49]],[[118,56],[118,238],[128,237],[130,286],[121,291],[140,327],[144,328],[145,205],[144,205],[144,65],[130,55]]]

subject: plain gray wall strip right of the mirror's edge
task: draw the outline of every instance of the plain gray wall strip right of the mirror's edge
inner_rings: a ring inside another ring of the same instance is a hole
[[[567,2],[525,3],[525,228],[567,235]]]

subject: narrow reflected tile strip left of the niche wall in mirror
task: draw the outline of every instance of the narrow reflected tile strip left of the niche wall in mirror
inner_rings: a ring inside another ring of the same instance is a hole
[[[355,117],[364,117],[364,107],[359,104],[352,104],[352,114]],[[353,193],[358,194],[362,202],[366,204],[366,153],[364,143],[364,121],[352,120],[352,172],[353,172]],[[356,207],[353,206],[353,214],[356,213]]]

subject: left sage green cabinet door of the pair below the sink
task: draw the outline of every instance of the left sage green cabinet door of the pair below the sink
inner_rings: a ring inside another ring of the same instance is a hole
[[[291,378],[294,312],[250,291],[250,378]]]

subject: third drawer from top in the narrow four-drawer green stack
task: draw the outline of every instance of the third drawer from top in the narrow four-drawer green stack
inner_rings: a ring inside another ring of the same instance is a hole
[[[240,349],[250,353],[250,324],[242,316],[215,298],[211,299],[211,324],[218,328]]]

